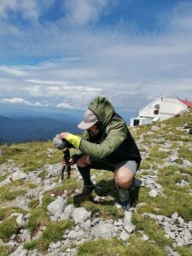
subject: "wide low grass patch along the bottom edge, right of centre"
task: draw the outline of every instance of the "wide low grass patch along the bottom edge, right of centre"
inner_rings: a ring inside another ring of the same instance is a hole
[[[96,241],[85,241],[78,247],[78,256],[166,256],[163,248],[149,241],[142,241],[137,237],[132,237],[131,245],[125,246],[123,241],[117,238],[110,240],[98,239]]]

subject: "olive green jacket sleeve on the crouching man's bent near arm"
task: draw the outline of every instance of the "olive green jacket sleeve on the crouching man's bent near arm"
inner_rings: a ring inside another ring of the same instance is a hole
[[[119,148],[120,144],[124,142],[126,136],[125,129],[123,129],[123,127],[119,127],[119,129],[112,129],[111,131],[108,131],[107,137],[101,144],[90,143],[82,138],[80,150],[84,154],[102,159],[107,157],[109,154],[112,154],[115,149]]]

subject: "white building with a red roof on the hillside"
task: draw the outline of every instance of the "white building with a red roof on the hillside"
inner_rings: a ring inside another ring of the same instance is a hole
[[[177,98],[159,97],[139,111],[137,118],[131,118],[131,126],[152,124],[192,108],[192,102]]]

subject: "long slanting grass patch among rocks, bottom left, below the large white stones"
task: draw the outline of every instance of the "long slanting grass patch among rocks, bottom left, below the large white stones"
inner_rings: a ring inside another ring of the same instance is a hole
[[[26,250],[38,249],[40,252],[46,252],[50,242],[62,240],[65,230],[70,229],[73,223],[68,220],[52,222],[47,224],[42,237],[38,241],[29,241],[25,243]]]

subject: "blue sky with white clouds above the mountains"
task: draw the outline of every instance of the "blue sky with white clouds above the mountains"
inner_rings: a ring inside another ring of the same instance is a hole
[[[0,103],[192,101],[191,0],[0,0]]]

